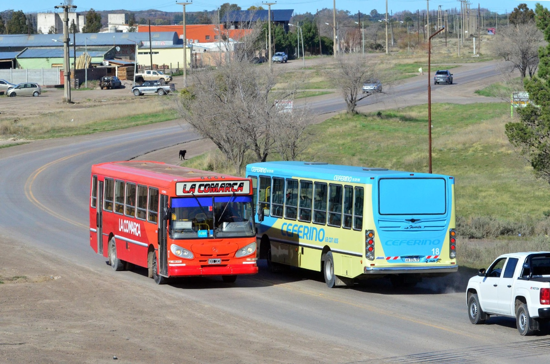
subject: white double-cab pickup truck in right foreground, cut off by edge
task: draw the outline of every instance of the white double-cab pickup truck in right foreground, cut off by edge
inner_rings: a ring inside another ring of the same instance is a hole
[[[550,252],[501,255],[470,278],[468,316],[482,324],[490,315],[515,317],[521,335],[532,335],[550,318]]]

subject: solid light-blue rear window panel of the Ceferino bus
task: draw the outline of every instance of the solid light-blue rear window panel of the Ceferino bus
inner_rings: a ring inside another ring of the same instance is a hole
[[[382,178],[378,181],[381,215],[441,215],[447,212],[443,178]]]

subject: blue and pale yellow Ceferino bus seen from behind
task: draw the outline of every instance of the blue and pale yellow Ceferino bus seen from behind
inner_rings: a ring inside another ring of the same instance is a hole
[[[453,177],[321,162],[252,163],[246,177],[271,269],[322,271],[331,288],[458,271]]]

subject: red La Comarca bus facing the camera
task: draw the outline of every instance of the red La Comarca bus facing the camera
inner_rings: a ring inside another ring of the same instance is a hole
[[[90,246],[114,271],[169,277],[255,274],[251,180],[160,162],[94,164]]]

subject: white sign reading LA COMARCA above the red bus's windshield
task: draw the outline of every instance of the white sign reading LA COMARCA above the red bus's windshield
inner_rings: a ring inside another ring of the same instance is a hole
[[[200,181],[177,182],[175,184],[176,196],[192,195],[249,195],[250,181]]]

